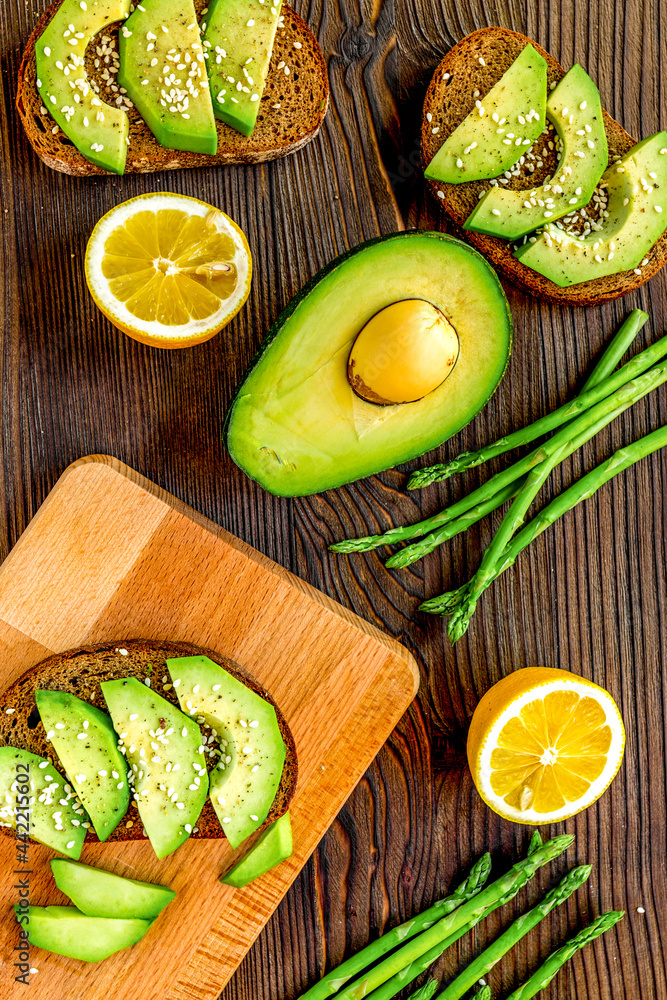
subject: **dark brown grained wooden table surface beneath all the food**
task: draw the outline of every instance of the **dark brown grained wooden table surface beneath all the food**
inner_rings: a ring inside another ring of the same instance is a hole
[[[296,7],[321,42],[332,88],[327,120],[310,146],[258,167],[76,180],[35,158],[13,107],[21,46],[43,0],[2,0],[0,555],[69,462],[106,452],[386,629],[417,657],[417,701],[225,998],[298,995],[369,937],[444,894],[483,850],[493,852],[498,867],[516,858],[528,831],[500,820],[477,797],[465,733],[491,683],[517,667],[544,664],[574,670],[612,693],[626,721],[627,752],[601,802],[562,825],[576,834],[568,862],[593,863],[588,888],[503,960],[490,979],[494,996],[520,982],[568,928],[613,907],[628,911],[618,930],[578,956],[543,995],[665,1000],[667,456],[626,472],[544,534],[484,596],[453,649],[440,620],[415,609],[423,595],[474,568],[488,523],[397,573],[375,554],[335,558],[326,545],[343,533],[431,512],[461,489],[456,480],[408,497],[401,469],[329,494],[281,500],[236,469],[220,428],[269,323],[318,268],[378,233],[444,227],[423,191],[418,120],[430,75],[452,44],[489,24],[526,32],[565,66],[579,61],[597,81],[603,105],[633,135],[645,136],[667,123],[667,2],[299,0]],[[254,254],[248,307],[218,338],[180,352],[143,347],[112,329],[83,278],[97,219],[153,190],[219,205],[245,229]],[[664,272],[638,294],[597,309],[551,308],[508,294],[515,321],[508,373],[442,456],[566,400],[630,308],[641,305],[652,315],[642,342],[665,329]],[[552,488],[666,420],[663,387],[567,462]],[[475,472],[468,482],[477,482]],[[553,878],[545,874],[541,888]],[[525,904],[519,896],[517,910]],[[463,939],[440,971],[451,973],[469,958],[513,909]]]

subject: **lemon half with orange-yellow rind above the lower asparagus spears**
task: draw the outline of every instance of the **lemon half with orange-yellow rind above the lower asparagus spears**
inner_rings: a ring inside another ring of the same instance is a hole
[[[468,762],[486,804],[534,826],[592,805],[615,777],[624,749],[611,695],[551,667],[516,670],[495,684],[468,734]]]

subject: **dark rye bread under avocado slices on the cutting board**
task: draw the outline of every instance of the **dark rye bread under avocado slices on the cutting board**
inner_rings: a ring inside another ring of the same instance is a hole
[[[260,697],[270,702],[276,710],[287,755],[280,786],[264,824],[267,826],[287,811],[296,788],[298,774],[296,746],[287,720],[271,695],[257,681],[253,680],[238,663],[226,656],[221,656],[219,653],[212,652],[210,649],[201,649],[199,646],[193,646],[187,642],[154,642],[149,639],[103,642],[94,646],[71,649],[42,660],[41,663],[37,663],[30,670],[27,670],[0,695],[0,746],[19,747],[39,754],[41,757],[48,757],[56,769],[62,773],[63,767],[54,753],[52,745],[46,739],[44,726],[35,704],[35,690],[37,688],[50,691],[68,691],[106,712],[106,702],[100,687],[101,681],[115,680],[120,677],[137,677],[144,681],[146,677],[149,677],[151,689],[178,706],[178,698],[173,689],[165,690],[162,680],[163,677],[166,677],[167,683],[169,683],[166,660],[175,656],[197,655],[209,656]],[[7,709],[14,711],[7,714]],[[207,757],[207,764],[210,770],[214,759]],[[132,824],[129,827],[127,826],[128,822]],[[225,835],[210,799],[206,800],[195,829],[197,832],[193,833],[192,836],[197,839],[224,839]],[[8,827],[0,827],[0,832],[5,836],[14,836],[14,831]],[[144,836],[143,824],[134,800],[132,800],[127,815],[106,842],[141,840]],[[86,841],[88,843],[98,841],[92,827],[88,831]]]

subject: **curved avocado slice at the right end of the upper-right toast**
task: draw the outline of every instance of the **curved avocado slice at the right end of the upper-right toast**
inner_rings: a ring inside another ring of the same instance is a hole
[[[586,237],[545,227],[515,252],[561,288],[639,268],[667,229],[667,132],[637,143],[605,172],[607,218]]]

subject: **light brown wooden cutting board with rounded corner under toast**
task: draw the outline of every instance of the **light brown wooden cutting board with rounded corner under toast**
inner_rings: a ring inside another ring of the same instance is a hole
[[[0,568],[0,688],[52,652],[106,639],[208,646],[274,696],[296,741],[294,855],[245,889],[218,881],[224,840],[163,861],[147,841],[90,844],[81,860],[177,891],[134,948],[86,964],[31,950],[32,1000],[210,1000],[220,993],[414,697],[393,639],[115,459],[71,465]],[[30,901],[68,902],[30,847]],[[0,837],[0,996],[14,982],[15,849]]]

